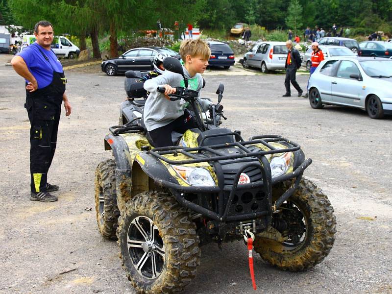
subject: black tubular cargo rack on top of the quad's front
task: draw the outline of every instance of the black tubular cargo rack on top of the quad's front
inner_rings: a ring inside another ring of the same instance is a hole
[[[278,135],[254,136],[249,138],[249,141],[244,141],[238,133],[234,132],[234,133],[222,133],[217,135],[211,135],[211,136],[207,136],[206,138],[227,136],[227,135],[235,135],[236,138],[239,137],[240,141],[233,142],[233,143],[218,144],[218,145],[200,146],[194,148],[181,147],[181,146],[159,147],[159,148],[153,148],[149,150],[148,153],[168,164],[182,165],[182,164],[195,164],[200,162],[214,162],[220,160],[238,159],[238,158],[245,158],[245,157],[257,158],[268,154],[294,152],[301,148],[299,144]],[[201,143],[204,142],[206,138],[203,138]],[[278,149],[269,144],[271,142],[282,142],[282,141],[292,145],[293,147]],[[269,148],[270,150],[266,150],[266,151],[260,150],[254,152],[245,147],[247,145],[253,145],[253,144],[262,144],[265,147]],[[233,154],[233,155],[223,155],[219,150],[216,150],[216,149],[227,148],[227,147],[237,147],[240,153]],[[210,152],[212,156],[205,157],[204,155],[200,154],[203,151]],[[163,155],[178,156],[178,153],[188,156],[192,159],[171,160],[163,156]],[[200,155],[196,156],[196,154],[200,154]]]

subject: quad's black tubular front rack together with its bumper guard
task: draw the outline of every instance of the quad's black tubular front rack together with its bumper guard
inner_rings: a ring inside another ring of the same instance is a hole
[[[200,146],[194,148],[177,147],[177,146],[159,147],[159,148],[151,149],[150,151],[147,151],[147,153],[151,154],[152,156],[168,164],[173,164],[173,165],[208,162],[211,163],[217,171],[221,169],[221,164],[225,164],[225,163],[220,163],[219,161],[243,158],[242,162],[247,162],[247,164],[245,164],[240,170],[237,171],[236,175],[234,176],[233,185],[225,185],[224,180],[219,175],[220,172],[218,172],[217,174],[218,186],[215,187],[194,187],[194,186],[186,187],[186,186],[181,186],[172,183],[167,180],[160,180],[158,184],[171,189],[173,195],[176,197],[177,201],[180,204],[198,213],[208,216],[209,218],[216,221],[245,221],[245,220],[260,218],[263,216],[268,217],[270,219],[272,213],[274,211],[277,211],[278,207],[294,193],[294,191],[298,187],[299,181],[301,180],[304,170],[312,163],[312,160],[308,158],[304,160],[303,163],[299,165],[293,172],[272,178],[271,171],[270,171],[270,163],[265,155],[297,151],[301,148],[297,143],[278,135],[255,136],[249,138],[248,141],[244,141],[238,133],[223,133],[223,134],[218,134],[213,136],[224,136],[224,135],[234,135],[236,139],[238,139],[239,141],[233,143],[227,143],[227,144]],[[292,147],[279,149],[270,145],[271,142],[286,142]],[[260,150],[255,152],[246,148],[246,146],[253,145],[253,144],[262,144],[267,148],[269,148],[269,150]],[[240,153],[233,154],[233,155],[223,155],[219,151],[219,149],[227,148],[227,147],[237,147]],[[205,155],[200,154],[201,152],[204,151],[208,151],[209,153],[211,153],[211,157],[206,157]],[[177,161],[177,160],[168,159],[164,156],[164,155],[178,156],[179,153],[188,156],[191,159]],[[260,173],[262,174],[262,179],[256,182],[239,185],[238,181],[241,174],[250,167],[256,167],[260,169]],[[292,186],[285,193],[283,193],[283,195],[280,196],[272,205],[272,185],[293,178],[295,178],[295,181],[292,184]],[[264,211],[230,215],[229,208],[233,202],[236,191],[247,190],[247,189],[263,190],[264,195],[268,197],[270,208]],[[218,193],[219,211],[215,212],[215,211],[208,210],[200,205],[197,205],[194,202],[187,200],[184,196],[184,193]],[[226,203],[224,203],[225,194],[228,195]]]

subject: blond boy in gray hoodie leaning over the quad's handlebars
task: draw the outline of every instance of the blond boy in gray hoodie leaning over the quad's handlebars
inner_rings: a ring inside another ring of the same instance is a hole
[[[184,40],[180,46],[180,55],[184,62],[184,75],[188,79],[188,89],[199,92],[203,85],[204,73],[208,66],[211,50],[207,43],[197,40]],[[157,92],[158,86],[165,87],[165,93]],[[184,133],[196,128],[193,114],[186,109],[188,103],[184,100],[171,101],[170,94],[176,92],[175,87],[185,87],[181,74],[165,71],[162,75],[147,80],[144,88],[150,92],[144,108],[144,123],[154,147],[172,146],[172,132]],[[198,98],[204,109],[211,102]]]

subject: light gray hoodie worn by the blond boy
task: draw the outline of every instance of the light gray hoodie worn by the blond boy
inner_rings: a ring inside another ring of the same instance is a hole
[[[201,74],[196,73],[195,76],[190,76],[185,67],[182,68],[185,77],[188,78],[188,89],[198,91],[200,96],[200,90],[203,86]],[[183,100],[170,101],[165,98],[163,93],[157,92],[158,86],[163,85],[185,87],[184,79],[181,74],[169,71],[165,71],[163,74],[149,79],[144,83],[145,90],[150,92],[143,113],[147,131],[152,131],[158,127],[172,123],[172,121],[184,114],[184,108],[188,106],[188,103]],[[201,98],[198,99],[202,107],[208,109],[208,105],[211,104],[211,101]]]

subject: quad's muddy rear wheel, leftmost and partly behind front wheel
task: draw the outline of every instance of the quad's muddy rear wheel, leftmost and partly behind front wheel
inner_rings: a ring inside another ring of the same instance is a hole
[[[120,211],[117,208],[116,164],[113,159],[102,161],[95,171],[95,209],[99,233],[117,240],[116,228]]]

